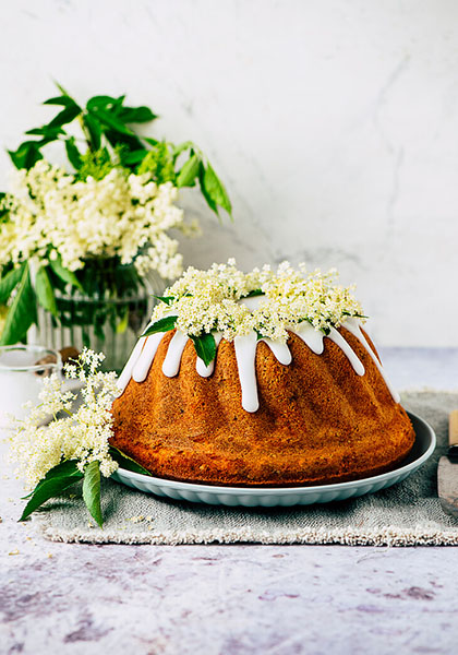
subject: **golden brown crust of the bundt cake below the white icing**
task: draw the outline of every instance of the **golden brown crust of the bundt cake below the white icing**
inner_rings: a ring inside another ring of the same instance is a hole
[[[413,428],[366,349],[339,332],[364,376],[327,338],[315,355],[290,334],[289,366],[260,343],[255,413],[241,406],[233,343],[221,341],[214,373],[202,378],[189,341],[179,374],[167,378],[166,333],[146,380],[131,380],[113,403],[111,443],[157,477],[209,485],[323,485],[393,468],[411,450]]]

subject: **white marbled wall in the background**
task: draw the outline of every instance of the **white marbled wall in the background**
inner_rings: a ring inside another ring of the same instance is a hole
[[[0,143],[45,121],[52,79],[128,92],[193,139],[234,223],[192,195],[186,263],[337,265],[384,345],[458,345],[458,3],[3,0]],[[0,188],[9,159],[0,154]],[[424,315],[432,320],[420,320]],[[438,327],[438,329],[437,329]]]

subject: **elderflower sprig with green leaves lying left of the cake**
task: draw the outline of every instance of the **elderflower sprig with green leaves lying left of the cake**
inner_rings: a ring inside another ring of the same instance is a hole
[[[103,354],[84,349],[80,358],[64,366],[68,379],[82,383],[81,405],[76,395],[65,391],[53,373],[43,381],[41,404],[31,405],[25,420],[15,421],[10,438],[10,460],[17,463],[16,475],[28,489],[24,521],[50,498],[60,496],[82,481],[83,499],[101,526],[101,476],[109,477],[121,463],[123,468],[149,475],[117,449],[109,445],[113,417],[111,404],[119,394],[116,373],[98,370]],[[44,425],[52,420],[49,425]]]

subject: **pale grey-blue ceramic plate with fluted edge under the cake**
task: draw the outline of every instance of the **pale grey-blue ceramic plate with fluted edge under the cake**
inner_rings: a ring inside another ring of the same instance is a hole
[[[118,468],[111,477],[118,483],[123,483],[129,487],[155,496],[216,505],[273,508],[347,500],[364,493],[373,493],[400,483],[432,455],[436,445],[436,437],[432,427],[419,416],[408,414],[415,431],[415,442],[409,456],[395,471],[361,480],[322,485],[320,487],[249,489],[244,487],[214,487],[210,485],[179,483],[132,473],[123,468]]]

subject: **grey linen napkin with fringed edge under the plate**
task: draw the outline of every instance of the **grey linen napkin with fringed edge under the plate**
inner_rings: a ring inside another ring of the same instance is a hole
[[[431,424],[438,445],[417,473],[376,493],[321,505],[238,509],[165,500],[106,480],[101,529],[80,497],[48,502],[35,520],[47,538],[67,543],[457,545],[458,520],[441,509],[436,472],[458,393],[407,392],[402,404]]]

